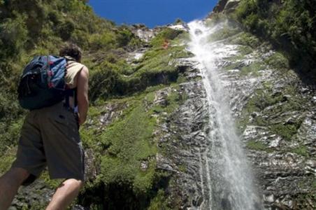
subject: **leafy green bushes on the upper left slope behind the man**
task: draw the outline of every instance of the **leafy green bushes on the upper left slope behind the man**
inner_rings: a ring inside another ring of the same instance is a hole
[[[17,82],[34,55],[57,55],[65,41],[88,52],[141,43],[127,27],[96,17],[80,0],[1,1],[0,31],[0,154],[17,144],[25,115],[17,104]]]

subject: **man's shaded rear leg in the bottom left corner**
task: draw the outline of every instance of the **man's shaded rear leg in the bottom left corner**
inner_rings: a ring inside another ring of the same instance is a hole
[[[11,168],[0,177],[0,210],[10,207],[17,190],[27,177],[29,172],[22,168]]]

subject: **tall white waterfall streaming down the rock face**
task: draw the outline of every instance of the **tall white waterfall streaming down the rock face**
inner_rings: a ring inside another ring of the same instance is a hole
[[[236,55],[236,45],[224,42],[210,42],[209,38],[221,25],[206,27],[201,21],[189,23],[191,42],[189,50],[201,71],[209,106],[209,147],[203,176],[207,209],[262,209],[254,189],[252,172],[247,157],[236,134],[234,118],[229,106],[229,93],[225,90],[225,80],[221,78],[217,63],[223,58]]]

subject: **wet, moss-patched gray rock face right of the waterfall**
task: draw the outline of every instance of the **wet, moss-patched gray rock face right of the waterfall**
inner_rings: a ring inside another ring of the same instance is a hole
[[[219,53],[243,48],[230,40],[217,43]],[[266,64],[277,52],[264,44],[241,53],[217,61],[217,67],[264,207],[315,209],[315,87],[294,71]]]

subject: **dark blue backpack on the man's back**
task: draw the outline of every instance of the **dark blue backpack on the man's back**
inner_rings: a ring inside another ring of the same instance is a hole
[[[37,56],[25,66],[17,89],[24,109],[41,109],[62,102],[67,95],[67,59],[52,55]]]

